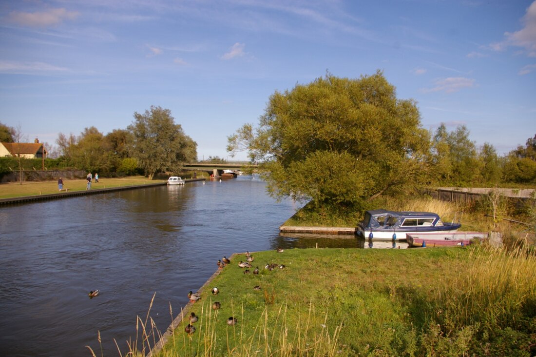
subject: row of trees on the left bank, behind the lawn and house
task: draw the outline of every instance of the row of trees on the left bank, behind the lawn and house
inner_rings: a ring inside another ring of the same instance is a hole
[[[13,142],[15,132],[0,123],[0,141]],[[58,157],[46,160],[49,169],[78,169],[101,176],[144,173],[152,179],[158,172],[178,172],[183,163],[197,161],[197,143],[175,123],[168,109],[159,106],[135,112],[126,129],[104,135],[92,126],[78,136],[59,133],[56,144]],[[4,171],[9,168],[6,163],[1,166]]]

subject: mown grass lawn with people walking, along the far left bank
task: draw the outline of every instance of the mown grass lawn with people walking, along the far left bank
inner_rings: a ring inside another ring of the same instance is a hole
[[[92,190],[95,188],[110,188],[120,186],[145,185],[165,182],[165,180],[149,180],[144,176],[129,176],[125,178],[99,178],[99,183],[96,184],[93,180],[91,184]],[[68,191],[85,191],[86,179],[81,180],[63,180],[63,190]],[[14,198],[23,196],[35,196],[41,194],[58,193],[57,181],[27,181],[20,183],[8,183],[0,185],[0,199]]]

